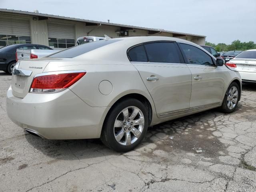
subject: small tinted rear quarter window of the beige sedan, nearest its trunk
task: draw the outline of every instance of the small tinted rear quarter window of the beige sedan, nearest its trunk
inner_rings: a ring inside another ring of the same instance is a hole
[[[148,62],[148,58],[143,45],[131,48],[128,52],[130,61],[134,62]]]

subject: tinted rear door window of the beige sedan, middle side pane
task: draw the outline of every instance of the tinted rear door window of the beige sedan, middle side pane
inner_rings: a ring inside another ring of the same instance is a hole
[[[176,46],[172,42],[155,42],[145,44],[149,62],[180,63]]]

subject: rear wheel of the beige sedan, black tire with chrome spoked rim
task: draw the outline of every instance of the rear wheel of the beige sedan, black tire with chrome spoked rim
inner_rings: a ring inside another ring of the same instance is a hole
[[[135,148],[148,129],[148,112],[139,100],[128,98],[116,104],[108,114],[100,139],[117,152]]]

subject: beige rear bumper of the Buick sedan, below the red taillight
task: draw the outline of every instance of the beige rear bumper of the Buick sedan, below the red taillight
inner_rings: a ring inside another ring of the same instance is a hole
[[[24,98],[7,92],[9,118],[46,139],[99,138],[107,107],[91,107],[71,90],[54,94],[28,93]]]

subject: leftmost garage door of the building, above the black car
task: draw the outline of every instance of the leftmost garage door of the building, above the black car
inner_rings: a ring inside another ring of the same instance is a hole
[[[31,43],[29,20],[0,17],[0,46]]]

